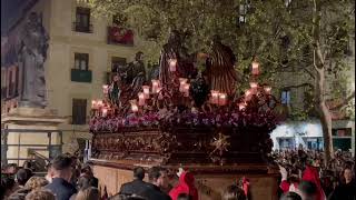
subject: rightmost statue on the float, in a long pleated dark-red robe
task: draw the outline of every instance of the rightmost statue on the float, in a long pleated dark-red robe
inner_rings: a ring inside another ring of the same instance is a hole
[[[206,76],[211,90],[233,94],[238,81],[234,69],[236,62],[233,50],[222,44],[218,36],[215,36],[210,46],[210,52],[206,60]]]

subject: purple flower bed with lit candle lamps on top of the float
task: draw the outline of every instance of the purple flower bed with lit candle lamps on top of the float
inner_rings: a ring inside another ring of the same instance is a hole
[[[151,80],[151,84],[142,86],[137,98],[126,107],[112,102],[110,86],[103,86],[105,99],[93,100],[91,104],[90,131],[162,127],[244,128],[247,124],[271,131],[278,123],[279,113],[275,109],[278,100],[271,94],[270,86],[258,83],[257,61],[251,63],[250,88],[240,97],[208,91],[207,87],[195,86],[194,80],[178,77],[176,70],[177,60],[169,60],[169,71],[174,74],[170,82],[162,84],[159,80]]]

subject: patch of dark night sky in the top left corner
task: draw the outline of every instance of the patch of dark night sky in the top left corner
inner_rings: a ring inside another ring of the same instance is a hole
[[[1,0],[1,36],[4,36],[23,14],[23,9],[31,0]]]

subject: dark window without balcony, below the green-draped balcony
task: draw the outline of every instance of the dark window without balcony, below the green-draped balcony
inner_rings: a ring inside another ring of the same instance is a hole
[[[87,99],[72,100],[72,124],[87,123]]]

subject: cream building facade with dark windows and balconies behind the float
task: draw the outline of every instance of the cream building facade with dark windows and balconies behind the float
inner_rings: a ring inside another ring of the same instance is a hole
[[[50,38],[44,62],[47,108],[68,119],[60,127],[62,149],[73,152],[91,137],[88,130],[91,101],[102,99],[102,84],[112,68],[132,61],[141,41],[131,31],[113,24],[112,19],[92,17],[85,1],[36,1],[1,40],[6,47],[1,50],[1,57],[6,58],[1,63],[1,113],[18,103],[21,72],[16,48],[30,12],[41,16]]]

